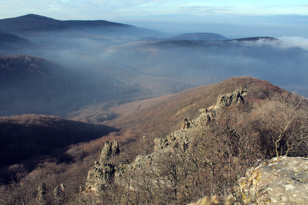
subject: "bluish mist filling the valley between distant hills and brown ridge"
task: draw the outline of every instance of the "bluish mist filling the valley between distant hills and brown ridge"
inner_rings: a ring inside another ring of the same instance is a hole
[[[170,38],[168,34],[166,39],[161,39],[123,33],[111,36],[69,31],[38,32],[22,37],[33,44],[19,50],[2,48],[0,53],[47,58],[60,63],[62,69],[72,74],[70,78],[78,76],[69,88],[65,88],[66,92],[51,97],[50,102],[54,101],[53,98],[62,99],[56,100],[63,103],[61,106],[38,114],[65,116],[66,111],[79,108],[76,101],[80,106],[92,102],[129,102],[172,94],[234,76],[265,79],[308,96],[308,52],[305,50],[308,49],[308,40],[305,38],[188,41],[166,40]],[[63,77],[61,79],[65,81]],[[70,98],[63,97],[69,96],[68,93],[79,98],[70,101]],[[87,97],[83,98],[83,95]],[[31,98],[27,100],[31,101]],[[72,106],[74,108],[67,109]],[[24,110],[6,112],[5,115],[22,114]],[[36,113],[35,109],[30,110]]]

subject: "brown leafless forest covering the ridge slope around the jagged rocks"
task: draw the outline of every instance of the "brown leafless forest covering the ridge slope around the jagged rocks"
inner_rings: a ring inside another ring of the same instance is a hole
[[[16,179],[18,176],[23,177],[29,174],[39,176],[37,181],[38,183],[46,182],[46,189],[50,193],[48,200],[51,202],[53,189],[60,183],[64,183],[66,189],[70,190],[67,191],[69,197],[66,198],[66,204],[91,204],[93,203],[91,196],[79,195],[79,186],[84,186],[88,168],[93,165],[94,160],[99,159],[100,150],[106,139],[117,140],[120,143],[121,153],[112,159],[112,163],[130,163],[136,155],[145,153],[148,141],[151,143],[151,147],[155,137],[163,138],[166,134],[179,129],[184,118],[193,119],[198,115],[199,108],[215,104],[219,94],[232,92],[240,86],[246,87],[248,90],[245,104],[222,111],[220,117],[216,118],[210,127],[195,133],[195,142],[191,145],[195,154],[187,156],[187,158],[192,159],[190,163],[198,159],[198,166],[181,164],[176,160],[170,161],[169,158],[163,156],[162,164],[157,164],[157,166],[166,167],[165,171],[168,171],[168,167],[175,167],[175,171],[176,167],[189,167],[191,170],[187,171],[194,173],[186,179],[191,186],[180,188],[179,183],[174,183],[171,188],[149,187],[149,183],[146,181],[148,178],[142,176],[155,173],[150,173],[151,169],[145,169],[144,173],[139,173],[140,181],[134,182],[141,184],[142,189],[140,188],[138,192],[118,187],[111,182],[109,189],[101,196],[101,200],[102,204],[157,204],[156,202],[185,204],[197,201],[205,195],[217,194],[225,197],[226,193],[230,191],[230,187],[238,177],[244,174],[254,159],[270,158],[275,153],[275,150],[269,152],[269,150],[273,150],[272,139],[264,140],[268,137],[266,127],[260,127],[260,124],[257,123],[257,119],[260,117],[260,111],[257,109],[260,105],[270,103],[271,99],[276,100],[275,96],[279,96],[282,92],[280,88],[267,81],[237,77],[215,85],[185,90],[179,94],[111,107],[108,111],[119,116],[113,120],[104,121],[103,124],[115,127],[120,131],[111,132],[103,138],[88,143],[72,145],[65,151],[58,151],[65,156],[70,156],[69,159],[65,158],[66,161],[58,158],[40,160],[40,163],[30,173],[26,172],[26,166],[21,163],[10,167],[10,170],[12,172],[15,170]],[[300,105],[305,102],[301,101]],[[94,111],[95,107],[92,109]],[[80,118],[82,119],[82,116]],[[145,140],[142,136],[146,136]],[[287,140],[283,142],[285,143],[283,147],[292,146],[292,143],[287,144]],[[303,146],[299,148],[302,151],[306,149]],[[303,154],[302,151],[300,155]],[[297,151],[292,153],[298,155]],[[176,166],[170,166],[172,164],[176,164]],[[18,173],[20,174],[18,175]],[[166,173],[168,172],[160,174],[165,175],[166,179],[170,179],[170,175]],[[169,173],[171,173],[170,170]],[[76,176],[75,179],[71,177],[72,175]],[[172,177],[184,179],[186,176]]]

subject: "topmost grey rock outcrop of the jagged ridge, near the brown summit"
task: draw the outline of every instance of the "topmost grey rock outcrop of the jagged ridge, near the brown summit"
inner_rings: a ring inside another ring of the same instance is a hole
[[[219,95],[214,109],[219,109],[222,107],[230,107],[234,106],[237,103],[244,102],[244,98],[242,96],[245,95],[246,95],[246,89],[243,89],[242,87],[234,90],[232,93]]]

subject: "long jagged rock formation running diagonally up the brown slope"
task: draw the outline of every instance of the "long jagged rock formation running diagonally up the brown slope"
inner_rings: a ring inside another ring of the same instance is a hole
[[[172,132],[165,139],[156,138],[154,140],[153,153],[138,155],[136,160],[130,164],[116,166],[104,163],[110,156],[119,152],[118,143],[115,141],[111,144],[107,140],[102,149],[99,163],[96,162],[95,166],[91,167],[88,172],[85,191],[101,192],[110,183],[111,179],[118,185],[127,187],[130,190],[135,190],[142,186],[138,182],[141,178],[143,181],[152,183],[154,187],[159,187],[161,184],[165,184],[167,187],[174,186],[175,179],[168,178],[163,174],[166,159],[174,160],[174,162],[168,163],[180,162],[181,164],[174,165],[174,169],[176,169],[174,171],[177,173],[182,171],[184,173],[183,170],[186,168],[184,164],[189,164],[188,161],[190,161],[188,156],[192,153],[193,145],[191,145],[191,142],[194,140],[196,130],[206,126],[215,117],[217,109],[234,106],[238,102],[243,102],[242,94],[244,92],[245,89],[240,88],[233,93],[221,95],[217,100],[215,108],[200,109],[200,115],[192,120],[192,122],[184,119],[181,130]],[[181,168],[181,166],[183,167]],[[185,173],[182,177],[182,185],[179,186],[190,186],[189,174]]]

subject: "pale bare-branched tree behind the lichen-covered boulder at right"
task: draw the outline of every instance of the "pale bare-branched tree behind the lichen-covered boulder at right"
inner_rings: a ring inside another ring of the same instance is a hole
[[[283,92],[253,110],[261,138],[272,155],[307,156],[308,103],[295,93]]]

